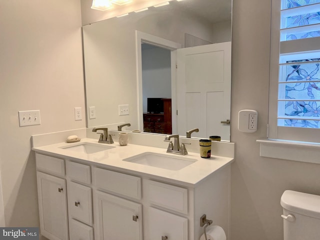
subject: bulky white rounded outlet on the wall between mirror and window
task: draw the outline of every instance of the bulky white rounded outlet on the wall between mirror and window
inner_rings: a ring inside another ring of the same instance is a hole
[[[242,132],[255,132],[257,127],[258,112],[244,109],[238,114],[238,130]]]

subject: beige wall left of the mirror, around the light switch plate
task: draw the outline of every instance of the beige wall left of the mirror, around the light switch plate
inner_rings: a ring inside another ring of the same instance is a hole
[[[0,171],[6,226],[38,226],[32,134],[85,127],[79,0],[0,1]],[[74,107],[83,119],[74,120]],[[41,125],[19,127],[18,110]]]

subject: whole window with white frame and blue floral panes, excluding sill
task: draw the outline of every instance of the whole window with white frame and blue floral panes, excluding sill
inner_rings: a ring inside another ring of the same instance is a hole
[[[320,0],[272,0],[271,21],[268,137],[320,142]]]

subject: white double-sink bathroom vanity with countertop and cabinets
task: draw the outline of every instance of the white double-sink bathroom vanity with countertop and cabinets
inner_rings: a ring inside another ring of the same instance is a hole
[[[197,240],[203,214],[228,239],[233,157],[92,138],[32,149],[40,233],[48,239]]]

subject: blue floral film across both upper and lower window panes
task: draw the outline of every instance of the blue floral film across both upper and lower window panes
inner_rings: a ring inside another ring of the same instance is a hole
[[[320,0],[281,0],[280,14],[280,41],[320,42]],[[277,124],[320,128],[320,50],[293,50],[279,55]]]

